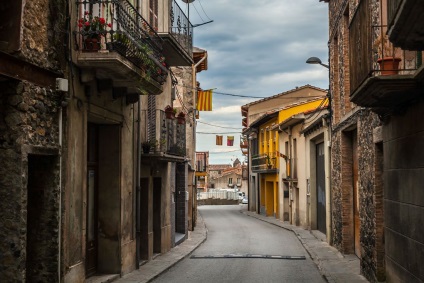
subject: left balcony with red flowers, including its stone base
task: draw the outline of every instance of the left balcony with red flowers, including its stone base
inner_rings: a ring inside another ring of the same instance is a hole
[[[76,64],[82,82],[112,80],[129,92],[160,94],[168,76],[163,40],[128,0],[77,1]]]

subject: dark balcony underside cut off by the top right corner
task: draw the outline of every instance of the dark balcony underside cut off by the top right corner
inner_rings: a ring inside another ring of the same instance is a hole
[[[424,5],[417,0],[387,0],[390,41],[405,50],[424,50]]]

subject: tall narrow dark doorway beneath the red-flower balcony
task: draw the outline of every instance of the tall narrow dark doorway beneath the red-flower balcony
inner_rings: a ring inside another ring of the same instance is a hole
[[[86,276],[97,271],[97,223],[98,223],[98,128],[88,125],[87,133],[87,233],[86,233]]]

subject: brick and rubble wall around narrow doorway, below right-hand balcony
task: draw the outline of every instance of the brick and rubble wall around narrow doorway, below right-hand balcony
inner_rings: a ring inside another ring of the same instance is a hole
[[[349,23],[360,1],[329,1],[330,79],[332,94],[332,245],[343,253],[354,252],[352,141],[351,131],[357,132],[358,193],[360,216],[361,273],[370,281],[384,280],[381,276],[383,213],[381,203],[381,172],[376,163],[373,130],[380,125],[377,115],[355,108],[350,103]],[[374,2],[370,0],[374,7]],[[375,9],[372,9],[375,18]],[[379,180],[376,180],[379,178]],[[380,186],[380,187],[379,187]],[[380,190],[378,190],[380,189]],[[376,193],[377,192],[377,193]],[[381,222],[381,221],[380,221]],[[376,274],[379,274],[377,276]]]

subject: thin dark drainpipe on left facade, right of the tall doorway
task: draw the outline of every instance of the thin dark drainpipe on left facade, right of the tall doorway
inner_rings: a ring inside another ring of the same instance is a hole
[[[135,266],[137,269],[140,268],[140,227],[141,227],[141,221],[140,221],[140,120],[141,120],[141,101],[140,98],[138,99],[138,103],[137,103],[137,164],[136,164],[136,173],[135,173],[135,178],[136,178],[136,188],[135,188],[135,199],[136,199],[136,263]]]

